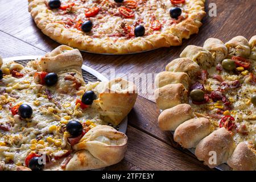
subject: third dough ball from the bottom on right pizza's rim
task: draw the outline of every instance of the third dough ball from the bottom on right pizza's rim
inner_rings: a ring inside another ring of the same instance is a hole
[[[177,127],[174,133],[175,142],[184,148],[196,147],[201,139],[212,131],[212,125],[207,118],[193,118]]]

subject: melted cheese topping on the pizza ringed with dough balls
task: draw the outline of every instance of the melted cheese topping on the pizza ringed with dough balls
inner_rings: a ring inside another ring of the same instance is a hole
[[[250,60],[249,72],[256,74],[256,61]],[[248,75],[242,75],[241,72],[235,74],[234,72],[227,72],[223,69],[218,72],[215,67],[207,69],[209,75],[204,84],[206,92],[220,90],[221,81],[214,79],[213,75],[220,75],[224,82],[239,80],[241,86],[237,88],[226,88],[224,95],[231,102],[231,108],[229,109],[224,105],[222,101],[214,102],[209,100],[207,104],[195,105],[192,100],[189,100],[189,104],[193,107],[193,110],[200,117],[200,114],[206,116],[212,121],[213,125],[219,127],[221,118],[226,115],[231,115],[235,119],[236,127],[233,127],[232,133],[235,142],[238,144],[245,140],[256,144],[256,110],[255,106],[250,102],[250,98],[256,93],[256,85],[252,84],[248,78]],[[221,112],[221,113],[220,113]]]

